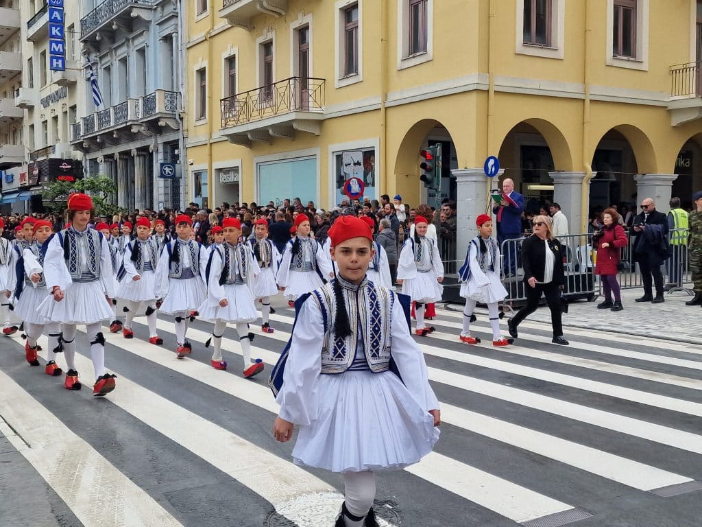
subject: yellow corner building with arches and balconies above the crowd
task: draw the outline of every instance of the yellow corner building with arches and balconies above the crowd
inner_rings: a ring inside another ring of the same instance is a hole
[[[415,205],[430,198],[418,155],[434,143],[459,227],[496,186],[488,155],[531,202],[560,202],[571,232],[595,207],[646,194],[665,211],[671,193],[702,188],[699,1],[194,4],[185,126],[199,204],[326,209],[356,174],[371,199]]]

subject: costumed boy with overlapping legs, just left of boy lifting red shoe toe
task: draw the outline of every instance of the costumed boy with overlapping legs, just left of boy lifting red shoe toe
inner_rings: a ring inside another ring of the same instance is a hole
[[[161,311],[176,318],[176,358],[190,355],[192,345],[185,338],[190,325],[190,314],[206,299],[202,281],[207,265],[207,249],[191,239],[192,219],[180,214],[176,217],[178,238],[166,243],[156,268],[157,299],[163,299]]]

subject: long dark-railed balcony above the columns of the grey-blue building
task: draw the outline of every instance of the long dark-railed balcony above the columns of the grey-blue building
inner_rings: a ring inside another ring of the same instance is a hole
[[[71,142],[78,143],[86,138],[154,120],[158,121],[159,127],[166,123],[176,126],[172,122],[180,110],[177,91],[157,90],[82,117],[79,122],[71,124]]]

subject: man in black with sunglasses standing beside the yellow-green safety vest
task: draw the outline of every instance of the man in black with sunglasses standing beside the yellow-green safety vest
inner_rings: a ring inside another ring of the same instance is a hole
[[[660,233],[654,232],[660,230]],[[661,304],[663,298],[663,273],[661,266],[668,259],[668,218],[656,210],[654,200],[647,197],[641,202],[641,214],[634,218],[630,234],[635,236],[634,261],[639,263],[641,280],[644,282],[644,296],[637,302]],[[655,240],[661,240],[656,242]],[[651,279],[652,277],[652,279]],[[656,297],[653,296],[652,285],[656,283]]]

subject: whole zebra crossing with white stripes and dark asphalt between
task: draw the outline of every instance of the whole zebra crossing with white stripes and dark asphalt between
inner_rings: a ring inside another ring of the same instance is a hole
[[[273,334],[252,325],[251,354],[269,372],[292,322],[281,308]],[[472,330],[489,342],[486,322]],[[383,525],[656,525],[637,523],[632,503],[646,521],[668,508],[687,525],[702,490],[702,347],[567,330],[566,349],[527,321],[514,346],[494,349],[458,341],[460,312],[431,323],[418,343],[442,437],[419,464],[379,476]],[[153,346],[136,318],[137,338],[107,339],[117,389],[98,401],[26,367],[20,339],[1,341],[0,432],[81,525],[333,524],[341,479],[291,462],[292,445],[270,434],[266,376],[239,375],[233,329],[222,344],[229,371],[213,370],[211,329],[196,320],[192,358],[176,360],[172,321],[159,318],[164,346]],[[87,379],[85,344],[79,333]]]

